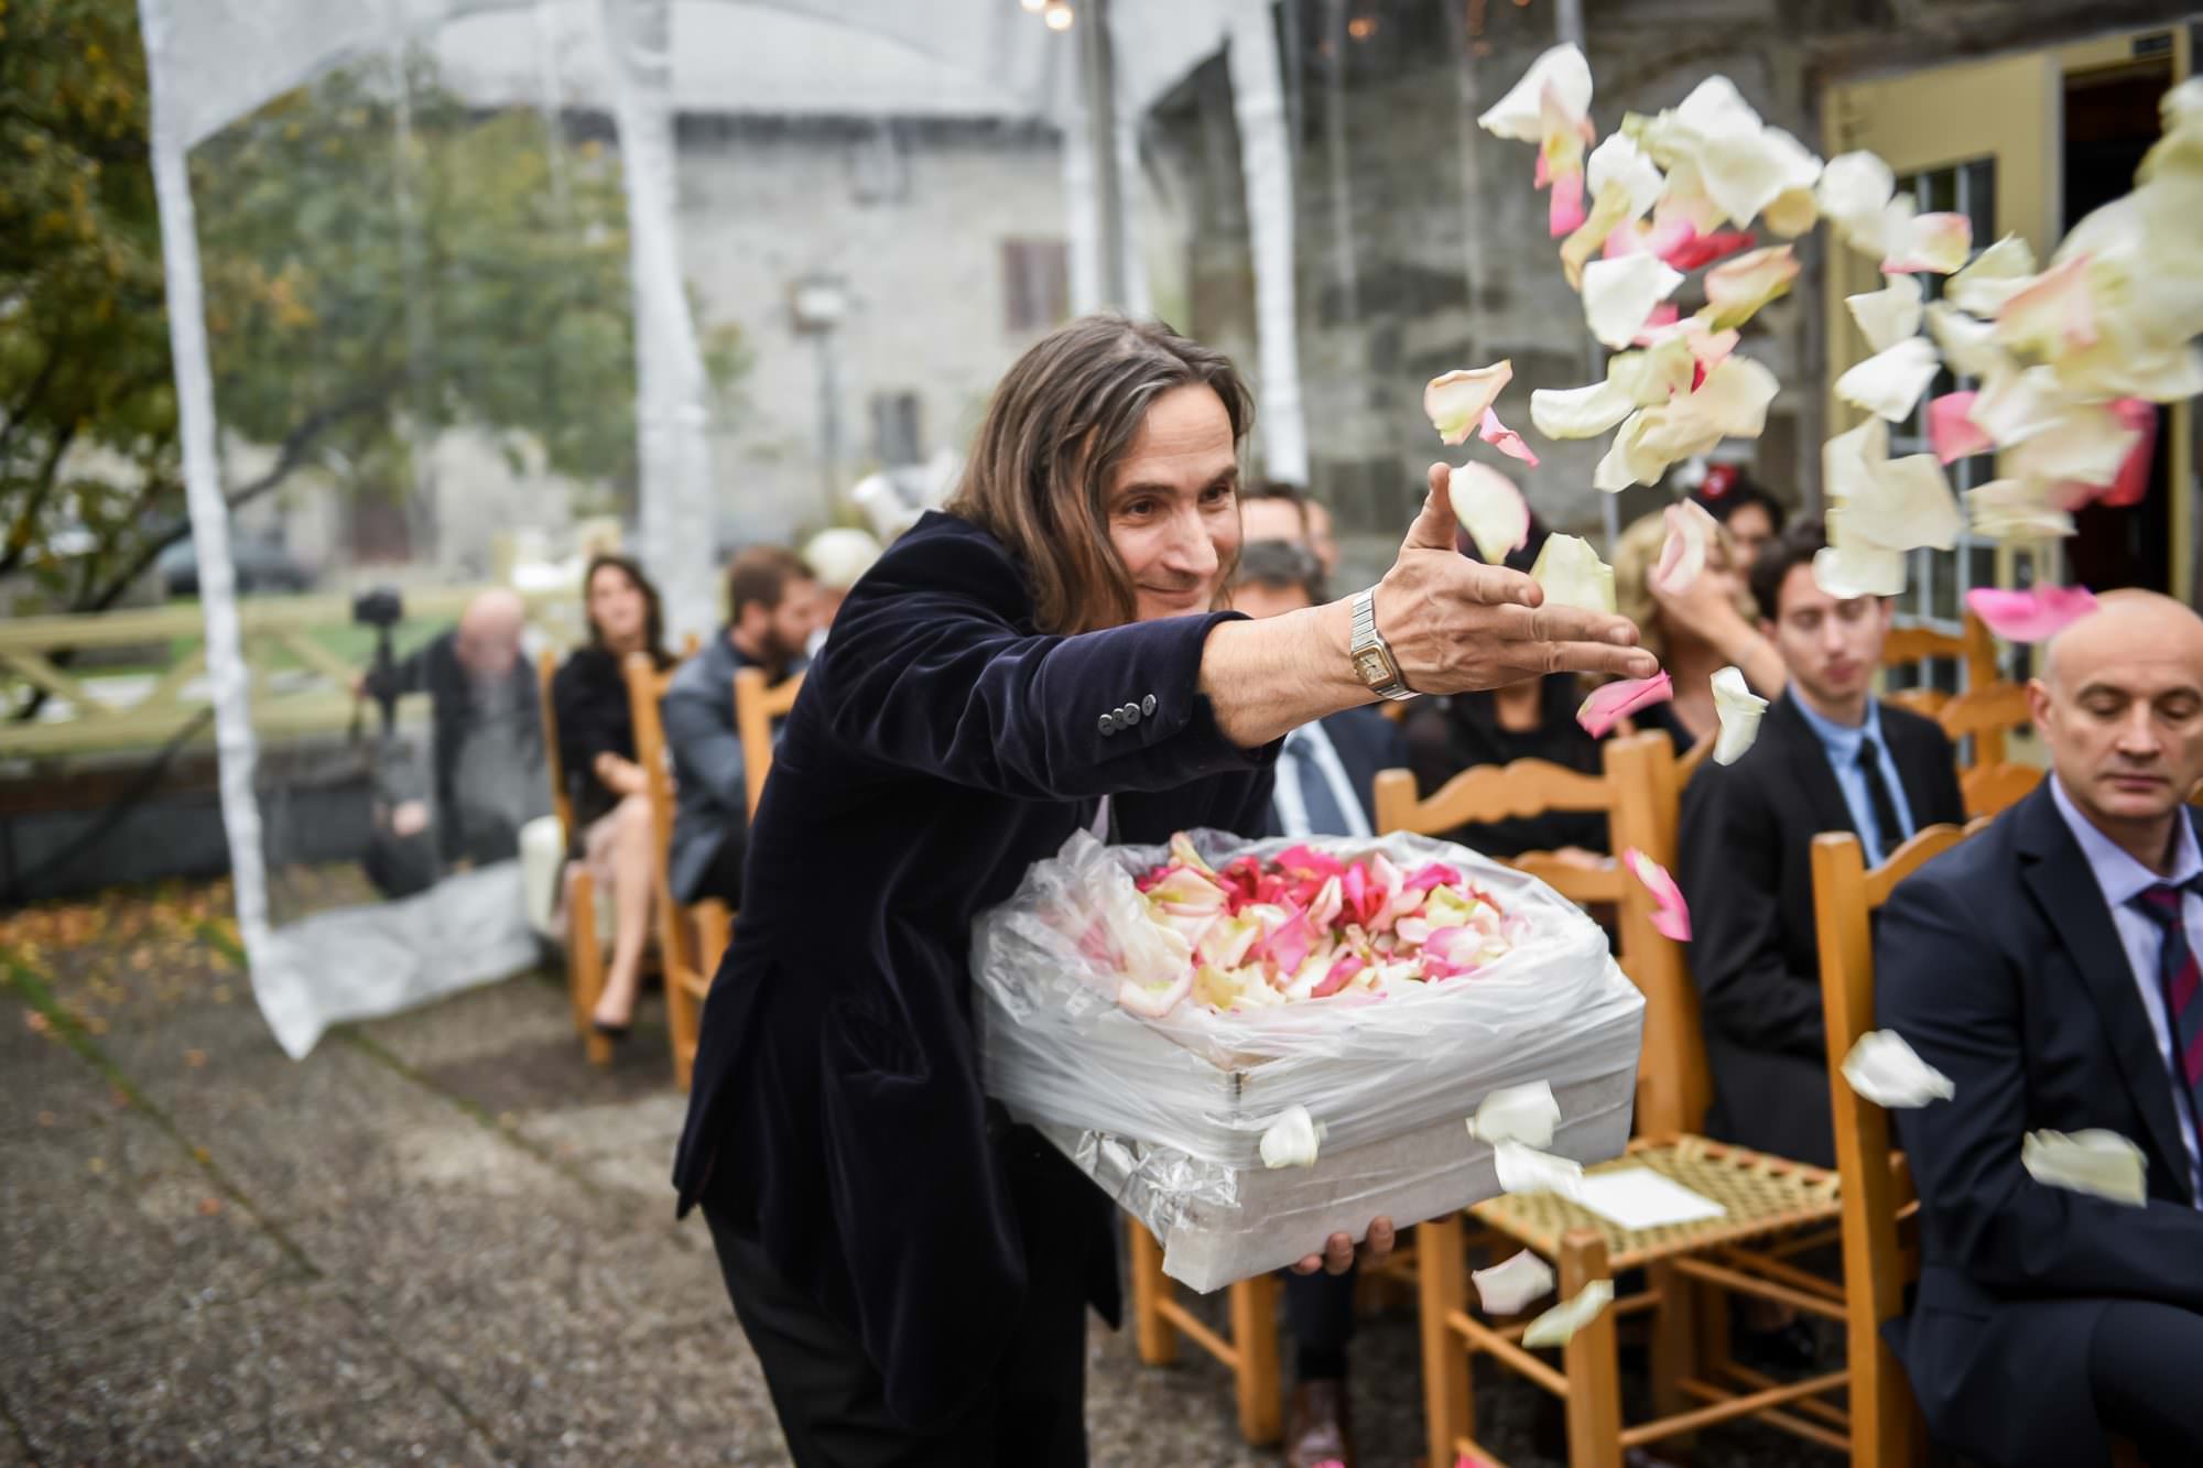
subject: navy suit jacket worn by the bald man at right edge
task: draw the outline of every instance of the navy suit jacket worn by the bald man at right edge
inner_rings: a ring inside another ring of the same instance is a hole
[[[2108,1464],[2088,1340],[2110,1298],[2203,1312],[2203,1212],[2170,1067],[2047,780],[1890,893],[1875,990],[1879,1023],[1956,1087],[1892,1113],[1921,1195],[1921,1285],[1888,1334],[1928,1426],[1989,1464]],[[2029,1131],[2091,1126],[2148,1157],[2141,1208],[2020,1166]]]

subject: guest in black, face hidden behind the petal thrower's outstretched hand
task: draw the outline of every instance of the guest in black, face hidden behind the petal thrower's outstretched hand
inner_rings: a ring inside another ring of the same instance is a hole
[[[1551,531],[1531,516],[1529,538],[1502,562],[1509,571],[1529,573]],[[1461,538],[1463,555],[1480,560]],[[1417,787],[1430,796],[1463,769],[1507,765],[1511,760],[1549,760],[1584,774],[1599,774],[1599,741],[1575,721],[1588,683],[1573,672],[1549,672],[1494,688],[1408,705],[1408,767]],[[1516,857],[1524,851],[1551,851],[1564,862],[1597,866],[1606,853],[1606,816],[1599,811],[1544,811],[1489,824],[1465,824],[1445,833],[1472,851]]]

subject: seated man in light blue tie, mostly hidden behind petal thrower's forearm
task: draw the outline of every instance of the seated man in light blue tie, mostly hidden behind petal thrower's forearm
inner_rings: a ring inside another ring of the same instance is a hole
[[[1249,617],[1324,600],[1315,553],[1289,540],[1251,540],[1240,551],[1231,608]],[[1370,835],[1379,769],[1406,769],[1408,741],[1375,708],[1350,708],[1284,736],[1271,791],[1273,835]],[[1346,1406],[1346,1342],[1355,1334],[1353,1274],[1289,1274],[1284,1316],[1298,1353],[1298,1384],[1284,1426],[1289,1468],[1353,1461]]]

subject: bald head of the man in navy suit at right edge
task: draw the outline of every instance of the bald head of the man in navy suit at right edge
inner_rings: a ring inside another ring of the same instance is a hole
[[[2170,820],[2203,778],[2203,617],[2172,597],[2104,593],[2027,694],[2060,785],[2104,829]]]

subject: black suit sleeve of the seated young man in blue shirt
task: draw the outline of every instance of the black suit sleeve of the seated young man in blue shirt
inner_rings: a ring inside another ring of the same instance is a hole
[[[1780,846],[1782,822],[1751,769],[1710,765],[1683,791],[1676,884],[1690,904],[1690,972],[1707,1029],[1824,1060],[1820,983],[1784,961]]]

